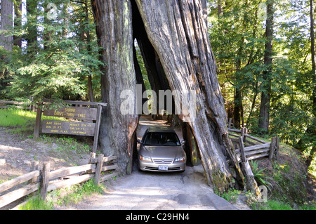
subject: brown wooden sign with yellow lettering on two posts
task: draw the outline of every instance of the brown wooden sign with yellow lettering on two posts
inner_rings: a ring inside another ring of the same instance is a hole
[[[51,103],[51,100],[44,100],[45,103]],[[85,101],[64,101],[67,104],[72,105],[90,105],[93,107],[61,107],[58,110],[44,108],[43,114],[51,117],[65,117],[70,119],[82,120],[82,121],[54,121],[43,120],[41,121],[42,105],[39,105],[37,110],[37,119],[35,121],[33,138],[39,137],[39,129],[42,133],[74,135],[74,136],[93,136],[93,152],[96,152],[98,145],[98,136],[100,129],[100,117],[102,107],[106,106],[106,103],[93,103]],[[89,122],[89,120],[91,122]],[[95,121],[95,122],[93,122]]]

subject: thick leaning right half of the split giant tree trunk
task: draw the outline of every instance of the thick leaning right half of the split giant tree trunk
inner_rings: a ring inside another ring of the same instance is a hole
[[[197,140],[209,185],[223,191],[232,183],[225,155],[242,184],[242,172],[228,137],[226,112],[201,2],[136,0],[136,3],[171,90],[197,93],[196,107],[187,108],[191,109],[190,116],[194,113],[196,116],[190,117],[192,121],[188,124]]]

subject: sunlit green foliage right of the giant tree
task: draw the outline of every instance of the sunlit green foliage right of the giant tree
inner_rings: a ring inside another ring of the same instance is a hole
[[[268,69],[263,63],[265,18],[259,16],[259,4],[265,1],[209,1],[209,38],[228,117],[240,107],[238,116],[250,133],[257,134],[262,131],[261,93],[268,94],[263,79]],[[312,157],[316,121],[309,14],[307,0],[275,2],[269,135]]]

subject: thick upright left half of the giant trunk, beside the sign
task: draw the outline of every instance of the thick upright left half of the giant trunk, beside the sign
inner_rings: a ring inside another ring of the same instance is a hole
[[[101,91],[107,107],[103,107],[100,124],[100,147],[105,156],[117,155],[121,170],[129,173],[138,115],[136,103],[129,105],[129,114],[121,112],[121,107],[124,107],[121,93],[131,90],[134,95],[129,95],[129,102],[136,102],[131,2],[93,0],[91,3],[98,44],[103,47],[102,60],[105,63]]]

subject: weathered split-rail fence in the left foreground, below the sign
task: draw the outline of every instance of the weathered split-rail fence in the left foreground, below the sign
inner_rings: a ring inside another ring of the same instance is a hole
[[[117,169],[116,164],[107,164],[107,166],[103,164],[106,162],[113,162],[115,159],[117,159],[117,157],[104,157],[103,154],[99,154],[98,158],[96,158],[96,154],[91,152],[88,164],[67,167],[56,171],[50,170],[50,163],[44,163],[42,169],[39,170],[38,162],[33,162],[32,166],[34,171],[0,184],[1,193],[27,182],[27,185],[21,186],[17,190],[1,195],[0,208],[37,190],[39,190],[41,198],[45,200],[47,192],[83,183],[92,178],[95,179],[95,183],[98,185],[105,180],[119,175],[119,171],[114,171]],[[102,175],[103,171],[114,172]]]

